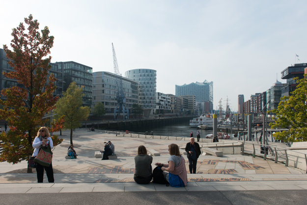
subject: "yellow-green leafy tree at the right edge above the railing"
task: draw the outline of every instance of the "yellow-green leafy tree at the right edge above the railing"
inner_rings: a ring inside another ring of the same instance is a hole
[[[290,96],[280,99],[278,109],[273,112],[275,122],[272,128],[288,128],[287,131],[276,132],[274,137],[284,142],[307,141],[307,79],[294,78],[298,86]]]

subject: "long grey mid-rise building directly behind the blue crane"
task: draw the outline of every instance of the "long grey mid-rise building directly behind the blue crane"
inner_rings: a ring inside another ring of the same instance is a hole
[[[104,71],[93,73],[93,104],[103,103],[107,114],[113,114],[117,106],[116,92],[118,87],[116,81],[118,79],[113,73]],[[126,97],[126,107],[130,110],[133,104],[138,104],[138,82],[122,77],[122,85]]]

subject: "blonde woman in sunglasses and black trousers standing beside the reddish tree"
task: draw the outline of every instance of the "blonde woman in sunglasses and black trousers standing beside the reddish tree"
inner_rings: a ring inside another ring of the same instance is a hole
[[[52,139],[50,137],[50,133],[49,133],[47,127],[41,127],[37,131],[36,137],[35,137],[33,144],[32,144],[32,146],[34,148],[32,156],[36,157],[38,152],[39,152],[39,149],[42,146],[48,146],[48,145],[50,145],[50,148],[54,147]],[[51,183],[55,182],[52,163],[48,167],[37,163],[37,165],[36,165],[37,182],[43,183],[44,170],[46,171],[46,174],[47,174],[47,177],[48,177],[48,182],[51,182]]]

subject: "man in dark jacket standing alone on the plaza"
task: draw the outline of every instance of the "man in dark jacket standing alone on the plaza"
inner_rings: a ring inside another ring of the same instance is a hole
[[[193,174],[196,174],[197,158],[201,154],[201,151],[198,143],[195,143],[194,137],[191,137],[190,140],[191,142],[187,143],[186,145],[186,152],[187,152],[187,157],[189,159],[190,173],[192,174],[192,169],[193,169]]]

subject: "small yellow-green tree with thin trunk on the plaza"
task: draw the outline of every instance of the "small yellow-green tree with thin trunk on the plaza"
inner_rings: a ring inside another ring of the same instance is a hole
[[[90,109],[82,106],[83,87],[79,88],[72,82],[63,97],[56,102],[56,119],[64,117],[64,127],[70,129],[70,144],[73,145],[73,129],[80,127],[80,121],[86,120]]]

